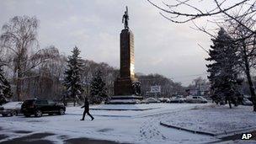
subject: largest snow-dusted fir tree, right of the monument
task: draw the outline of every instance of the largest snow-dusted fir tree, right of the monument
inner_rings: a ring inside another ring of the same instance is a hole
[[[237,88],[241,83],[237,72],[237,48],[233,45],[232,38],[222,28],[218,32],[217,38],[213,39],[212,42],[210,57],[205,59],[212,62],[206,65],[208,67],[207,72],[210,72],[208,79],[211,82],[212,99],[217,104],[228,102],[232,108],[232,103],[237,105],[237,99],[240,95]]]

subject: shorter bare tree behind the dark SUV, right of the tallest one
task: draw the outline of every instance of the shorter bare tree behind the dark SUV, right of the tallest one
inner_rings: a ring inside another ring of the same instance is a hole
[[[31,70],[22,80],[24,99],[31,99],[35,96],[39,99],[62,99],[61,94],[64,92],[64,87],[61,81],[64,79],[67,57],[61,55],[53,45],[47,49],[55,57]]]

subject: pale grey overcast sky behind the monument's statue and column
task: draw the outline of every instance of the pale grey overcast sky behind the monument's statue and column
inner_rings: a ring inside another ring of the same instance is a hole
[[[0,25],[16,15],[36,16],[41,48],[56,47],[66,55],[74,45],[84,59],[104,61],[120,67],[120,31],[125,6],[135,36],[135,71],[160,73],[184,85],[195,77],[205,77],[210,37],[173,24],[159,14],[147,0],[1,0]]]

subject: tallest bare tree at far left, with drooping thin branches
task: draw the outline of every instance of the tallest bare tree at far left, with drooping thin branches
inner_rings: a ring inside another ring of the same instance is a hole
[[[21,80],[33,68],[51,58],[47,49],[40,50],[37,40],[39,21],[35,17],[15,16],[3,25],[0,46],[8,51],[14,77],[17,99],[22,99]],[[50,52],[50,53],[49,53]]]

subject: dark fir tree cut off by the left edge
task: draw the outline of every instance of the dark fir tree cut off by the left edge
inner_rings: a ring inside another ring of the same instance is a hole
[[[0,65],[0,104],[6,102],[6,98],[10,98],[13,96],[11,91],[10,83],[8,80],[3,77],[3,65]]]

